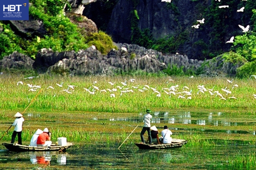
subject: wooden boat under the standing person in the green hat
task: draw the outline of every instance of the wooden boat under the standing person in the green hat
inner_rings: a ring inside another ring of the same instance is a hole
[[[172,139],[171,144],[143,144],[143,143],[135,143],[136,146],[139,147],[139,149],[167,149],[167,148],[178,148],[182,145],[185,145],[187,143],[187,140],[183,139]]]

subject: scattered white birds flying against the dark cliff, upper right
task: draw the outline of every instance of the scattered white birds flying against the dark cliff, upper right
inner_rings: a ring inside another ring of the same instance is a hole
[[[171,3],[171,1],[172,1],[172,0],[162,0],[161,2]],[[217,1],[217,0],[215,0],[215,1]],[[218,0],[218,1],[220,2],[221,0]],[[242,0],[242,1],[247,1],[247,0]],[[228,8],[229,6],[228,6],[228,5],[222,5],[222,6],[218,6],[218,7],[219,7],[219,8]],[[244,10],[244,7],[238,9],[237,12],[243,12],[243,10]],[[203,18],[202,20],[197,20],[197,22],[199,22],[199,24],[197,24],[197,25],[192,25],[191,27],[192,27],[192,28],[195,28],[195,29],[198,29],[199,26],[200,26],[200,24],[204,24],[204,23],[205,23],[205,18]],[[246,32],[249,31],[250,25],[247,25],[246,27],[244,27],[243,25],[238,25],[238,26],[243,30],[244,33],[246,33]],[[227,41],[226,43],[233,43],[233,42],[234,42],[234,36],[232,36],[232,37],[230,38],[230,40]]]

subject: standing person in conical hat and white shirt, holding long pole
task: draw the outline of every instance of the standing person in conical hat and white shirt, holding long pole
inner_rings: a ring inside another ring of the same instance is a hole
[[[22,145],[21,133],[22,133],[22,124],[24,122],[24,118],[23,118],[22,114],[20,114],[19,112],[17,112],[14,115],[14,117],[16,117],[16,119],[14,120],[12,126],[15,126],[15,128],[13,131],[11,143],[15,142],[16,135],[18,134],[18,144]]]

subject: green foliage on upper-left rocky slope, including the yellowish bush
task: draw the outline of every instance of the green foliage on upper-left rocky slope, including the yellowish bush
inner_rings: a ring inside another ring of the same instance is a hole
[[[14,51],[21,52],[35,58],[38,50],[51,48],[53,51],[70,51],[86,49],[95,45],[102,54],[106,54],[113,46],[111,37],[103,32],[86,37],[76,24],[71,23],[63,14],[64,7],[70,8],[64,0],[31,0],[29,14],[35,19],[40,19],[47,30],[44,36],[28,35],[28,39],[19,37],[8,25],[1,24],[3,32],[0,33],[0,59]],[[66,5],[66,6],[65,6]],[[95,38],[95,40],[94,40]],[[88,42],[88,44],[86,43]]]

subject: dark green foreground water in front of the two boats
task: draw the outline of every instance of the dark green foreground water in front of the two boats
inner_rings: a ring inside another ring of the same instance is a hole
[[[47,163],[59,169],[228,169],[230,158],[255,152],[255,146],[229,145],[200,149],[182,147],[172,150],[138,150],[125,147],[83,145],[59,152],[0,152],[0,162],[11,166],[19,163],[30,167]],[[10,166],[10,167],[11,167]]]

